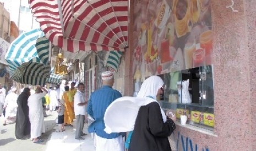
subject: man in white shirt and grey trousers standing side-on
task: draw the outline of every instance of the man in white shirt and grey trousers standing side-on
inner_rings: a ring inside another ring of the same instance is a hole
[[[78,91],[74,97],[74,109],[75,109],[75,139],[77,140],[84,140],[84,135],[86,133],[83,132],[84,129],[84,120],[85,120],[85,113],[86,113],[86,102],[84,99],[84,84],[78,84]]]

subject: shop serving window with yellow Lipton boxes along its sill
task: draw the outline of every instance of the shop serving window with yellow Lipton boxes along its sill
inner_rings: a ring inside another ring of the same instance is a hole
[[[165,82],[159,98],[162,108],[173,109],[177,121],[187,115],[187,124],[213,130],[214,89],[212,66],[201,66],[160,75]]]

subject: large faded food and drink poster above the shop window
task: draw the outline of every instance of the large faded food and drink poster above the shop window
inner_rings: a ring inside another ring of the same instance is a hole
[[[135,0],[134,79],[211,65],[210,0]]]

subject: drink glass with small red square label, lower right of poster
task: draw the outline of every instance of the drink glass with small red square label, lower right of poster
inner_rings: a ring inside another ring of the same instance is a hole
[[[193,51],[193,67],[205,66],[205,49],[198,48]]]

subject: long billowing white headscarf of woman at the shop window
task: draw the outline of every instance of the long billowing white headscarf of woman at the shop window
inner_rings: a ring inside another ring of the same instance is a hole
[[[104,130],[107,133],[132,131],[134,129],[139,108],[141,106],[146,106],[151,102],[157,102],[155,100],[157,91],[163,85],[164,82],[162,79],[153,75],[143,82],[137,97],[124,96],[113,101],[110,106],[107,107],[104,115],[106,126]],[[162,109],[161,114],[165,123],[166,116]]]

